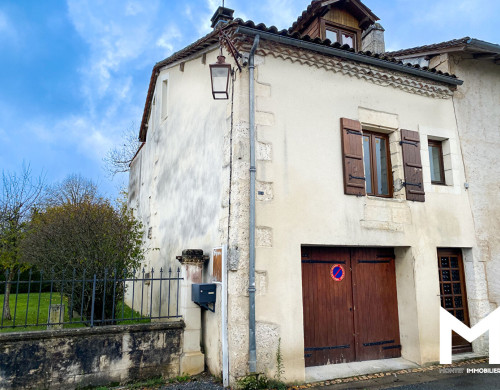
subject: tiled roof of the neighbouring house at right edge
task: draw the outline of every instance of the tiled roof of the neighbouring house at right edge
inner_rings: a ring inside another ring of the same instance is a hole
[[[480,53],[497,53],[500,54],[500,45],[481,41],[470,37],[460,39],[452,39],[451,41],[434,43],[432,45],[424,45],[412,47],[409,49],[397,50],[386,53],[393,57],[415,57],[415,55],[432,55],[450,51],[470,51]]]

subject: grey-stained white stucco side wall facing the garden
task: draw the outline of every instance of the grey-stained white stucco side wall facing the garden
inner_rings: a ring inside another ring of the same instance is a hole
[[[171,267],[172,276],[176,277],[180,266],[176,256],[184,249],[203,249],[205,254],[211,254],[212,248],[226,243],[228,211],[223,202],[227,202],[229,168],[224,145],[230,110],[227,101],[212,99],[208,64],[216,61],[216,55],[216,51],[209,51],[203,63],[202,53],[198,53],[185,60],[183,71],[179,63],[161,70],[146,144],[131,165],[129,206],[144,224],[146,245],[150,248],[146,268],[154,267],[157,276],[160,267],[164,277]],[[162,91],[165,80],[166,95]],[[164,96],[166,113],[162,112]],[[211,270],[210,260],[204,269],[204,282],[212,282]],[[166,313],[165,287],[162,315]],[[218,286],[218,297],[220,294]],[[159,299],[156,285],[155,313]],[[216,309],[216,313],[203,313],[203,339],[206,364],[213,373],[221,375],[220,298]],[[171,310],[175,310],[175,291]]]

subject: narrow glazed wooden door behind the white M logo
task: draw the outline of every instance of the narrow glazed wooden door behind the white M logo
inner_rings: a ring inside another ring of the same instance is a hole
[[[464,265],[460,249],[438,249],[441,307],[470,326]],[[457,333],[452,334],[453,353],[472,352],[472,345]]]

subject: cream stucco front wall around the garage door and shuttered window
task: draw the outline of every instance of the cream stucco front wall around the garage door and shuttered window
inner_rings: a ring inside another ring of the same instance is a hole
[[[452,100],[378,86],[269,55],[256,61],[257,191],[264,192],[257,194],[256,210],[258,371],[273,375],[281,337],[286,380],[304,380],[304,244],[395,247],[403,357],[418,363],[437,361],[436,248],[475,246]],[[248,120],[247,79],[244,71],[235,100],[235,117],[242,128]],[[395,197],[402,199],[344,195],[341,117],[392,132],[395,175],[402,175],[398,130],[420,132],[425,203],[408,202],[397,193]],[[370,118],[378,119],[370,123]],[[452,185],[430,184],[428,135],[449,142]],[[242,142],[247,147],[247,141]],[[235,166],[234,172],[245,181],[246,169]],[[247,239],[244,234],[241,238]],[[241,260],[247,246],[239,242]],[[229,285],[230,364],[232,372],[241,375],[247,364],[248,282],[245,264],[235,263],[237,271],[230,274]],[[402,282],[404,278],[408,283]]]

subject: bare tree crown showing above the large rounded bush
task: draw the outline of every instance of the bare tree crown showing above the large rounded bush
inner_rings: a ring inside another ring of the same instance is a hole
[[[80,174],[69,175],[62,182],[48,187],[44,197],[46,207],[62,206],[64,204],[99,203],[102,201],[97,184]]]

